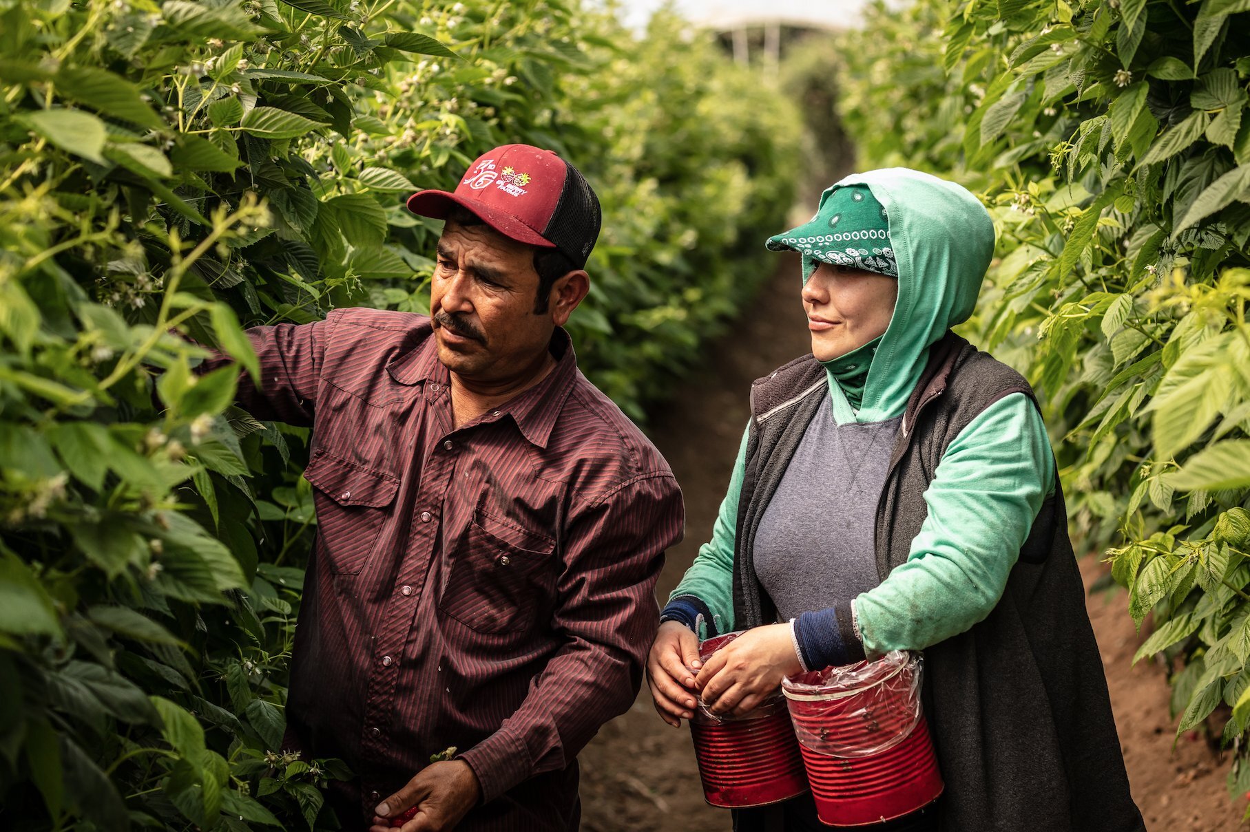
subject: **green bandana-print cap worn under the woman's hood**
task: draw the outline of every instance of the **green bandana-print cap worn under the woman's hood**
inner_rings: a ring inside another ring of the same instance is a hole
[[[899,276],[885,209],[868,185],[844,185],[825,191],[811,220],[769,237],[768,247],[801,254],[804,281],[811,276],[816,262]]]

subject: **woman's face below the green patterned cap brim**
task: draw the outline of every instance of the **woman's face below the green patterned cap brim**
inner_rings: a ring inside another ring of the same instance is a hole
[[[899,299],[899,281],[854,266],[819,264],[802,286],[811,352],[830,361],[885,332]]]

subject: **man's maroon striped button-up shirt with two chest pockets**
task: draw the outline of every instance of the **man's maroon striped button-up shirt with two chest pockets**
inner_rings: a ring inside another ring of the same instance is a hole
[[[312,427],[289,736],[351,765],[364,817],[458,746],[482,790],[458,828],[576,828],[575,757],[638,693],[681,538],[664,457],[562,330],[546,379],[460,428],[422,315],[249,335],[262,382],[240,402]]]

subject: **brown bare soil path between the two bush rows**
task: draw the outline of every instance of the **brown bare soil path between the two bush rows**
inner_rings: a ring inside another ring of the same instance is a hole
[[[750,382],[809,350],[798,281],[798,260],[786,260],[758,302],[708,351],[701,374],[651,416],[649,433],[672,466],[686,503],[686,538],[669,550],[656,586],[661,603],[711,533],[746,426]],[[1081,570],[1086,587],[1104,572],[1094,557],[1085,558]],[[1244,802],[1230,802],[1225,791],[1226,755],[1199,735],[1174,743],[1175,721],[1169,715],[1170,688],[1162,670],[1149,661],[1130,666],[1146,633],[1135,632],[1125,593],[1090,596],[1089,612],[1146,828],[1242,828]],[[625,715],[604,726],[580,761],[586,832],[730,828],[729,812],[702,800],[686,726],[672,728],[660,721],[646,685]]]

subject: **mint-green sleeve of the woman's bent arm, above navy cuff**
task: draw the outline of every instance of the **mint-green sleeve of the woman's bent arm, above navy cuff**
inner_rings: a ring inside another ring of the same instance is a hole
[[[924,650],[990,615],[1054,490],[1055,457],[1032,401],[1011,394],[986,407],[938,463],[908,560],[855,600],[865,652]]]

